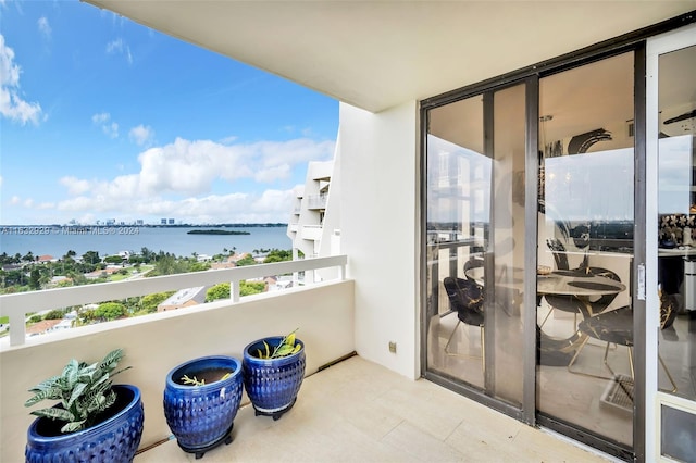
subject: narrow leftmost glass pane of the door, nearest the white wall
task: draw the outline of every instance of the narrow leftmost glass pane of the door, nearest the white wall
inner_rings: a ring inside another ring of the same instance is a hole
[[[483,290],[464,275],[483,265],[490,223],[483,97],[430,111],[428,125],[427,368],[484,389]]]

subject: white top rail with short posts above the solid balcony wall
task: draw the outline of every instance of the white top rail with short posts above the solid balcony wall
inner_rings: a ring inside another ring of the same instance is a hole
[[[26,314],[51,309],[63,309],[92,302],[120,300],[154,292],[172,291],[196,286],[231,284],[231,299],[239,301],[239,281],[266,276],[311,272],[318,268],[338,267],[339,279],[345,278],[347,258],[336,255],[321,259],[278,262],[273,264],[249,265],[235,268],[222,268],[178,275],[139,278],[134,280],[74,286],[70,288],[47,289],[44,291],[20,292],[0,296],[0,316],[10,318],[10,345],[25,342]]]

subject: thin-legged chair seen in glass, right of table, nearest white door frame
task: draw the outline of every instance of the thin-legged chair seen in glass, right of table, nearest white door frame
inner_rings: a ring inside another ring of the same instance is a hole
[[[635,377],[633,370],[633,309],[630,305],[624,305],[620,309],[610,310],[604,313],[600,313],[595,316],[591,316],[582,321],[579,325],[579,329],[585,336],[585,339],[580,345],[580,348],[575,352],[575,355],[571,359],[568,364],[568,371],[571,373],[591,376],[600,379],[614,379],[618,375],[611,368],[609,363],[607,362],[607,356],[609,354],[609,345],[616,343],[617,346],[625,346],[629,348],[629,364],[631,366],[631,378]],[[575,361],[580,356],[580,353],[583,351],[585,345],[589,340],[589,338],[598,339],[600,341],[607,342],[607,347],[605,349],[605,355],[602,359],[604,365],[607,367],[609,373],[611,373],[611,377],[606,377],[601,375],[595,375],[591,373],[581,372],[579,370],[573,370],[573,365]],[[667,370],[667,365],[662,360],[662,356],[658,353],[658,359],[667,377],[672,384],[672,392],[676,392],[676,384],[672,378],[669,370]]]

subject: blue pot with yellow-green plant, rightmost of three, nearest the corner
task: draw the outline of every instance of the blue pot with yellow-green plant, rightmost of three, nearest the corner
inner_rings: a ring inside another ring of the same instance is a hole
[[[297,400],[306,358],[304,343],[295,331],[256,340],[244,349],[244,386],[257,416],[278,420]]]

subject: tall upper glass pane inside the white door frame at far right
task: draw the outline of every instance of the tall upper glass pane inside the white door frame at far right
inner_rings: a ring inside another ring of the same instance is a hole
[[[658,66],[658,387],[695,400],[696,46]]]

